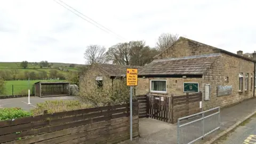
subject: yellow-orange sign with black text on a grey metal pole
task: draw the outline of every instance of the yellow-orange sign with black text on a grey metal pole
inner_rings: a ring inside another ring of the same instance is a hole
[[[137,68],[126,69],[126,85],[127,86],[138,85],[138,69]]]

